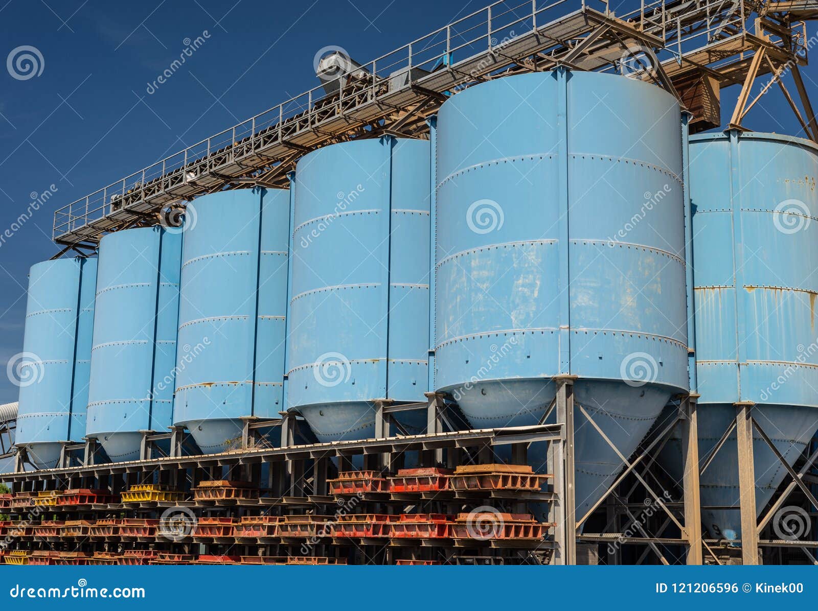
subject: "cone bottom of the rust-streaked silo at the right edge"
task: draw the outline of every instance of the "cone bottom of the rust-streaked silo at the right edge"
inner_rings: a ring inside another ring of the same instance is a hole
[[[731,404],[699,404],[699,459],[703,462],[721,439],[721,435],[735,419]],[[766,433],[789,466],[798,459],[818,429],[816,408],[789,405],[761,405],[753,408],[753,418]],[[658,462],[681,486],[681,436],[678,427],[667,442]],[[753,435],[753,462],[756,476],[756,509],[758,515],[766,511],[773,493],[787,475],[770,447],[757,432]],[[739,455],[735,432],[721,446],[707,470],[699,477],[700,498],[703,507],[739,506]],[[784,502],[784,507],[788,504]],[[783,510],[782,510],[783,511]],[[783,517],[783,514],[782,514]],[[776,521],[778,524],[775,524]],[[741,539],[741,512],[735,510],[702,509],[702,525],[715,538],[728,542]],[[781,530],[781,520],[771,520]],[[786,531],[782,530],[784,535]],[[774,538],[779,537],[775,533]]]

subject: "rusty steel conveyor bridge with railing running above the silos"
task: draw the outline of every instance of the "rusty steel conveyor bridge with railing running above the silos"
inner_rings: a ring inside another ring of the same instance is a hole
[[[818,137],[798,70],[809,46],[799,20],[818,16],[818,0],[643,2],[622,16],[607,0],[582,0],[568,13],[564,2],[495,2],[371,61],[362,74],[344,75],[336,91],[307,91],[61,207],[52,228],[63,247],[56,256],[92,251],[111,231],[167,222],[201,194],[286,188],[298,159],[321,146],[386,134],[427,137],[426,119],[456,91],[558,65],[655,82],[694,115],[693,132],[718,127],[719,90],[734,84],[742,93],[730,124],[740,127],[759,97],[748,100],[754,80],[771,74],[764,91],[778,83],[807,136]],[[786,73],[802,110],[784,86]]]

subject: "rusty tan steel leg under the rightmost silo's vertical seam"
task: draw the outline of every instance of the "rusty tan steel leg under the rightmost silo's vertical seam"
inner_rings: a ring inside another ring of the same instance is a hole
[[[739,506],[741,508],[741,560],[758,564],[756,477],[753,462],[752,403],[735,404],[735,439],[739,450]]]

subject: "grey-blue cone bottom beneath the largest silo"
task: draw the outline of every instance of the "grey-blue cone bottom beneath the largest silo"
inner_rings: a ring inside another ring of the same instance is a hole
[[[479,382],[461,391],[461,410],[476,429],[532,426],[540,421],[555,396],[551,380]],[[582,415],[585,408],[623,456],[631,457],[662,413],[671,390],[654,384],[629,386],[622,381],[578,380],[574,383],[574,462],[577,519],[605,495],[624,463]],[[556,410],[548,419],[556,421]],[[528,464],[537,473],[547,470],[548,444],[528,448]],[[510,450],[498,453],[510,459]],[[659,495],[662,490],[656,491]]]

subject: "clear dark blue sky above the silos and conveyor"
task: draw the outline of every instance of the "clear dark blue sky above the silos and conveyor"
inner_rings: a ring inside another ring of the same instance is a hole
[[[363,63],[486,4],[0,0],[0,60],[23,45],[44,60],[43,73],[25,81],[0,65],[0,233],[29,207],[32,192],[56,186],[0,245],[2,368],[22,350],[29,267],[57,252],[56,207],[315,87],[312,61],[321,47],[339,45]],[[566,11],[579,4],[566,2]],[[205,30],[207,42],[147,95],[185,39]],[[818,68],[803,72],[818,104]],[[726,106],[735,93],[723,93]],[[745,124],[803,136],[777,87]],[[0,403],[17,391],[0,371]]]

